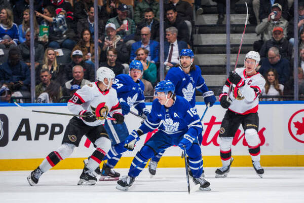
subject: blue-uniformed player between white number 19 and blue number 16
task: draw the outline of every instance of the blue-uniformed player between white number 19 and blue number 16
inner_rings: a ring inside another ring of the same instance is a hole
[[[130,112],[130,108],[134,107],[138,114],[142,117],[148,115],[149,110],[144,103],[144,84],[140,80],[143,74],[142,63],[138,60],[133,60],[129,66],[130,75],[120,74],[116,76],[112,87],[116,89],[117,95],[122,107],[122,114],[126,115]],[[100,174],[101,181],[103,180],[118,180],[120,174],[113,170],[113,167],[122,157],[122,153],[127,151],[124,147],[124,141],[129,136],[129,130],[125,122],[115,124],[113,121],[105,121],[104,127],[109,135],[112,146],[105,156],[107,162],[103,164],[101,172],[97,168],[96,173]]]

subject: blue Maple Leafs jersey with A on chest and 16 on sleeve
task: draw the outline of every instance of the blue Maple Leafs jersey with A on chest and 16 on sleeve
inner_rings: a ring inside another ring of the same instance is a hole
[[[203,130],[196,111],[181,96],[176,96],[170,108],[165,108],[158,99],[153,101],[151,112],[139,129],[147,133],[156,128],[168,136],[183,136],[186,133],[193,138],[196,138]]]

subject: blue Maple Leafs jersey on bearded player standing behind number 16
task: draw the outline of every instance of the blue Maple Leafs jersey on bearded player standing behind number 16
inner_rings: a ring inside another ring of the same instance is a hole
[[[176,95],[184,97],[189,101],[191,107],[195,107],[195,90],[201,92],[209,91],[202,77],[202,72],[199,66],[196,65],[196,70],[192,70],[189,74],[185,74],[181,67],[172,67],[166,76],[165,80],[170,80],[174,86]]]

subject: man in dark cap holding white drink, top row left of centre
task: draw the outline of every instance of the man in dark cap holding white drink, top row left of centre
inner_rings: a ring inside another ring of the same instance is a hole
[[[117,8],[118,15],[108,19],[106,24],[113,23],[117,27],[117,35],[124,39],[125,42],[133,40],[135,34],[135,23],[131,18],[128,18],[129,10],[127,5],[121,4]]]

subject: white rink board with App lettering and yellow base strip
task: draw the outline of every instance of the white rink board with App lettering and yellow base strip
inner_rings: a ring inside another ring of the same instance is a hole
[[[37,111],[70,113],[66,104],[24,105]],[[147,104],[150,108],[150,103]],[[201,117],[206,106],[197,103]],[[51,151],[61,144],[65,127],[71,116],[34,113],[15,105],[0,105],[0,171],[32,170]],[[135,109],[133,109],[136,112]],[[220,166],[219,128],[225,110],[216,103],[203,118],[202,153],[204,166]],[[263,102],[259,105],[259,131],[261,164],[263,166],[304,166],[304,103]],[[141,119],[129,114],[125,118],[129,131],[137,129]],[[132,158],[153,133],[141,137],[134,151],[127,151],[117,167],[129,167]],[[82,160],[94,151],[84,136],[80,146],[72,155],[61,161],[55,168],[82,168]],[[181,149],[166,150],[159,167],[181,167]],[[240,127],[235,134],[232,147],[235,157],[233,166],[251,166],[244,130]]]

